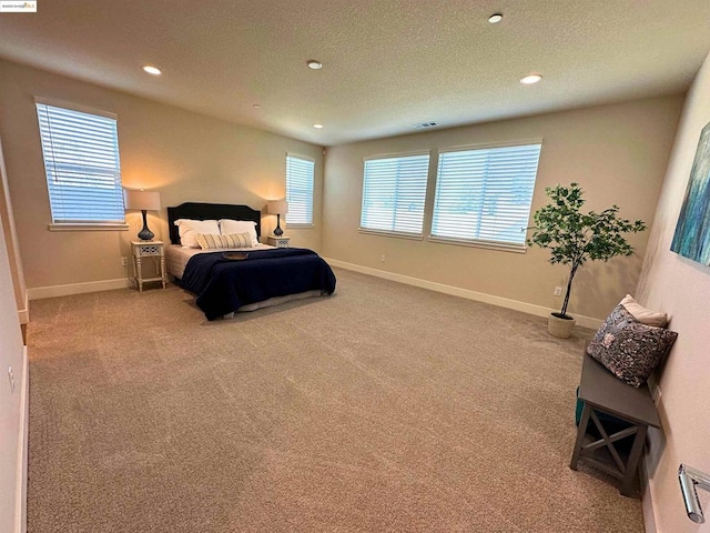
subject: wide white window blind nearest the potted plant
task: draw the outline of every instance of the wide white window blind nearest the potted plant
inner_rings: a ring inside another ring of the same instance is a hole
[[[442,152],[432,237],[524,247],[540,147]]]

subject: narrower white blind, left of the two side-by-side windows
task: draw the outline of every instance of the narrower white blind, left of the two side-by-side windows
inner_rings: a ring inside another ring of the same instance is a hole
[[[361,228],[422,234],[429,154],[365,161]]]

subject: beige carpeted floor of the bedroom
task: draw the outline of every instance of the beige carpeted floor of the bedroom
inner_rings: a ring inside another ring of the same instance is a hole
[[[230,321],[172,285],[33,301],[28,531],[643,531],[568,467],[590,331],[336,274]]]

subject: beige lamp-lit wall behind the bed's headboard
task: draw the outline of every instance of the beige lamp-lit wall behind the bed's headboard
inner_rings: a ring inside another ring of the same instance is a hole
[[[286,232],[292,245],[320,250],[320,147],[0,61],[0,134],[30,290],[125,278],[121,257],[129,255],[128,243],[142,225],[140,213],[129,212],[129,231],[48,231],[36,95],[116,113],[123,184],[158,189],[163,208],[200,201],[262,209],[266,200],[285,195],[286,152],[315,159],[315,228]],[[263,224],[266,233],[275,227],[275,217],[264,217]],[[149,214],[149,225],[156,239],[168,240],[164,209]]]

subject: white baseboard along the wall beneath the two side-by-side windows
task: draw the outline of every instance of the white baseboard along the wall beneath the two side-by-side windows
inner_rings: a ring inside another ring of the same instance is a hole
[[[513,309],[515,311],[521,311],[524,313],[534,314],[536,316],[547,318],[554,309],[544,308],[541,305],[535,305],[534,303],[520,302],[518,300],[510,300],[508,298],[496,296],[493,294],[486,294],[484,292],[469,291],[468,289],[462,289],[459,286],[446,285],[444,283],[437,283],[434,281],[422,280],[419,278],[412,278],[403,274],[395,274],[393,272],[386,272],[384,270],[371,269],[369,266],[361,266],[359,264],[346,263],[345,261],[338,261],[336,259],[326,259],[332,266],[338,266],[345,270],[352,270],[362,274],[369,274],[376,278],[383,278],[385,280],[397,281],[399,283],[406,283],[408,285],[419,286],[422,289],[428,289],[430,291],[443,292],[445,294],[452,294],[454,296],[466,298],[468,300],[475,300],[477,302],[490,303],[491,305],[498,305],[499,308]],[[592,330],[599,329],[602,321],[594,319],[591,316],[575,315],[577,324],[582,328],[589,328]]]

